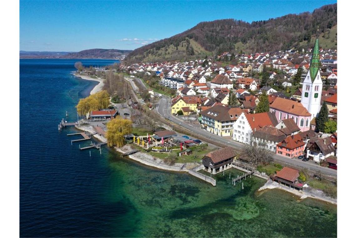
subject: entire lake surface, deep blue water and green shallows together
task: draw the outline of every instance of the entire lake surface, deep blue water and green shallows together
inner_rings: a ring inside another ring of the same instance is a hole
[[[66,134],[76,129],[56,125],[66,111],[76,120],[74,106],[96,84],[69,75],[75,61],[20,60],[21,237],[337,236],[336,206],[276,189],[257,193],[262,179],[247,179],[242,190],[228,171],[212,187],[111,149],[89,157],[71,146]]]

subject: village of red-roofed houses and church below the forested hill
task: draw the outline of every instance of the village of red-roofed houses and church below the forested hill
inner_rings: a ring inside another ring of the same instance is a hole
[[[244,144],[264,142],[278,155],[337,169],[337,51],[321,49],[318,40],[301,52],[225,52],[217,59],[119,70],[155,80],[152,94],[175,92],[167,93],[172,116],[195,117],[202,130]]]

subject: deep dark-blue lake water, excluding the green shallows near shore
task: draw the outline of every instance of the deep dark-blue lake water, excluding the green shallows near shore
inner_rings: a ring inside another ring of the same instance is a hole
[[[70,75],[79,60],[20,60],[20,236],[107,236],[124,206],[102,203],[109,169],[97,151],[79,151],[57,125],[97,82]],[[84,66],[112,60],[80,60]],[[89,143],[84,142],[82,143]],[[105,232],[104,232],[105,231]]]

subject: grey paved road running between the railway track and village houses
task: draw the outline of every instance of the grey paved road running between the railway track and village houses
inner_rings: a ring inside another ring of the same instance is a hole
[[[187,122],[184,122],[180,119],[178,119],[175,116],[172,116],[170,113],[171,110],[171,99],[165,95],[162,96],[159,105],[155,108],[156,112],[158,112],[161,116],[167,118],[168,120],[175,122],[176,124],[187,128],[188,130],[192,131],[193,133],[196,133],[198,135],[210,138],[211,140],[215,140],[221,143],[225,143],[227,146],[231,146],[233,148],[236,148],[238,150],[242,150],[243,147],[245,146],[243,143],[233,141],[232,139],[227,139],[221,136],[217,136],[215,134],[212,134],[206,130],[203,130],[200,128],[200,126],[195,126],[188,124]],[[321,173],[324,173],[326,175],[331,175],[331,176],[337,176],[337,171],[335,169],[330,169],[326,167],[321,167],[318,164],[315,164],[312,161],[301,161],[300,159],[290,159],[286,158],[284,156],[280,155],[273,155],[273,159],[277,162],[281,161],[284,163],[290,163],[295,166],[301,166],[305,167],[308,169],[313,169],[313,170],[318,170],[321,171]]]

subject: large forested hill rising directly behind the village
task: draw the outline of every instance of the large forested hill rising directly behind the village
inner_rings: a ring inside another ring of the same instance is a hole
[[[253,21],[225,19],[201,22],[167,39],[132,51],[127,63],[197,59],[222,52],[271,52],[312,47],[316,35],[323,48],[337,48],[337,4],[312,13]]]

